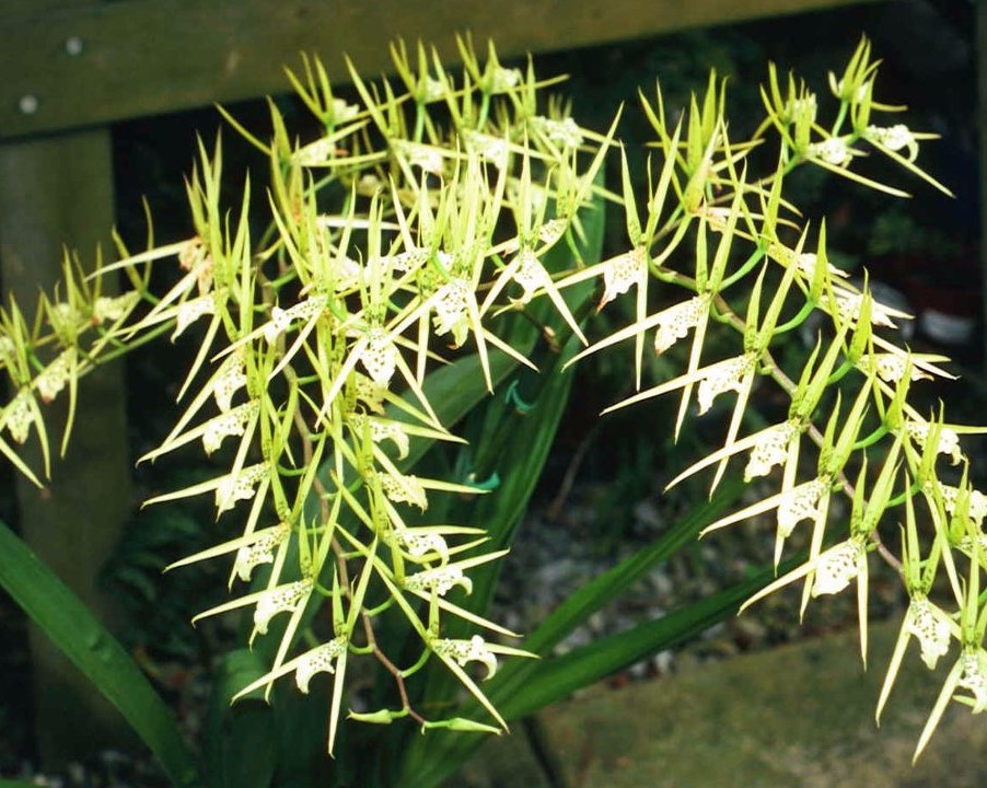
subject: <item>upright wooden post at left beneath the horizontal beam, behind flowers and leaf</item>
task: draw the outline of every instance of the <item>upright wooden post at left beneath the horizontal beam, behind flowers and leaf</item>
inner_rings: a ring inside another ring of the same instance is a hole
[[[0,282],[31,314],[40,288],[59,277],[62,244],[91,263],[113,224],[108,128],[0,144]],[[50,290],[49,290],[50,292]],[[60,397],[65,401],[66,396]],[[65,403],[46,408],[57,453]],[[32,463],[35,468],[39,463]],[[80,386],[76,428],[65,461],[53,463],[43,490],[18,483],[21,533],[38,555],[112,625],[116,611],[96,586],[130,509],[130,470],[119,364]],[[32,628],[35,730],[45,768],[127,741],[119,714],[45,635]]]

